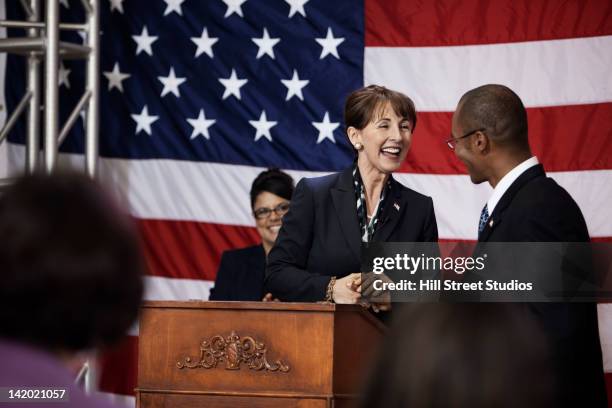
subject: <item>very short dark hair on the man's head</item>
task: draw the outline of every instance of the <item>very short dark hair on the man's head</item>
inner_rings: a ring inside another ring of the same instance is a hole
[[[489,84],[472,89],[461,97],[458,109],[465,132],[485,128],[499,145],[529,149],[527,112],[510,88]]]

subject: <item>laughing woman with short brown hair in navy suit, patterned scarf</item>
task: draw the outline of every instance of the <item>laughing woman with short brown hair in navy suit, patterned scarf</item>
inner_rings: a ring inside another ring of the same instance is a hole
[[[348,96],[344,123],[355,161],[300,180],[268,256],[267,291],[285,301],[360,303],[362,242],[437,241],[432,199],[392,177],[416,122],[414,103],[400,92],[370,85]],[[388,309],[388,300],[374,310]]]

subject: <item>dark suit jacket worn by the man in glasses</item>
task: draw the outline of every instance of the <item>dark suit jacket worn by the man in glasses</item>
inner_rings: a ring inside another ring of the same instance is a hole
[[[502,196],[479,242],[589,242],[580,208],[541,165],[525,171]],[[547,335],[557,404],[607,406],[597,309],[593,303],[527,303]]]

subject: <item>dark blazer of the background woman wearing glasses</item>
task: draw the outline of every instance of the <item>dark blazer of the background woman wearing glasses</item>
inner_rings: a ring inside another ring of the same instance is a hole
[[[209,300],[261,300],[265,269],[261,245],[223,252]]]

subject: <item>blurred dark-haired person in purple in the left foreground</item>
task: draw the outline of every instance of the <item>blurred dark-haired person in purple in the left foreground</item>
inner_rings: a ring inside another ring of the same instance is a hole
[[[66,389],[61,406],[109,407],[69,367],[136,320],[143,261],[130,220],[86,176],[39,174],[0,195],[0,236],[0,386]]]

